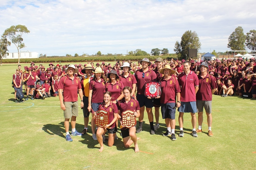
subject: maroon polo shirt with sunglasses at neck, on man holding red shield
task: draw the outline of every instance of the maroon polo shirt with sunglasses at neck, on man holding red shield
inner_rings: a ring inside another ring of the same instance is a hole
[[[142,74],[143,74],[142,69],[139,69],[135,72],[135,75],[134,75],[137,80],[137,94],[144,94],[145,83],[156,81],[157,79],[156,73],[151,69],[148,69],[148,71],[144,73],[144,78],[142,78],[143,76]]]

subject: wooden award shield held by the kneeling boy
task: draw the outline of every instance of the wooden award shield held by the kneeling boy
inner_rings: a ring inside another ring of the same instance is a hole
[[[122,122],[123,127],[130,128],[130,127],[135,126],[137,123],[136,117],[134,116],[134,111],[132,111],[132,110],[127,110],[127,111],[122,112],[121,117],[122,117],[121,122]]]

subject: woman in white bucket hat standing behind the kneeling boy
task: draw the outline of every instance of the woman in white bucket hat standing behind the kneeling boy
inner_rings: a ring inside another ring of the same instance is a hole
[[[130,73],[130,64],[128,62],[124,62],[121,66],[121,69],[124,71],[124,73],[121,75],[119,79],[124,84],[124,87],[129,86],[132,88],[132,96],[136,99],[135,90],[137,80],[135,79],[134,75]]]

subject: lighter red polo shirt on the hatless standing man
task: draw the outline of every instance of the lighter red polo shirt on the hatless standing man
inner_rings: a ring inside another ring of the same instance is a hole
[[[186,75],[184,72],[178,75],[178,82],[181,86],[181,101],[191,102],[196,101],[195,98],[195,86],[199,85],[198,77],[195,72],[190,70]]]

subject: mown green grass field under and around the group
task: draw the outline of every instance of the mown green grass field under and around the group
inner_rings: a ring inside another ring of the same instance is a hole
[[[66,142],[58,97],[14,102],[11,81],[16,68],[16,64],[0,66],[0,169],[256,169],[255,100],[214,95],[212,137],[207,135],[205,114],[203,132],[197,138],[190,134],[190,114],[184,114],[181,138],[176,112],[176,141],[162,136],[166,128],[161,117],[160,129],[150,135],[145,114],[143,131],[137,135],[139,153],[134,152],[134,145],[124,148],[120,129],[115,145],[108,147],[106,142],[99,153],[90,124],[88,134]],[[83,130],[82,110],[76,129]]]

